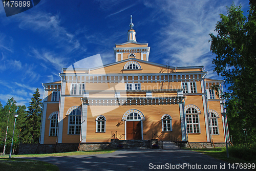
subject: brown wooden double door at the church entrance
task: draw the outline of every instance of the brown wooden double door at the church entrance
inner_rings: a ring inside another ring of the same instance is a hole
[[[141,140],[141,121],[127,121],[126,134],[127,140]]]

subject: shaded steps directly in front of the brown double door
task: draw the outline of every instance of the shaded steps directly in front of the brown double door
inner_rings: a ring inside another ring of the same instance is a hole
[[[119,140],[119,148],[151,148],[150,140]]]

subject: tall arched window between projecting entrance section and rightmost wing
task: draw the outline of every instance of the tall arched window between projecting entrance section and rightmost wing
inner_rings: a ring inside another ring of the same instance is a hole
[[[199,115],[195,108],[186,110],[187,133],[200,133]]]

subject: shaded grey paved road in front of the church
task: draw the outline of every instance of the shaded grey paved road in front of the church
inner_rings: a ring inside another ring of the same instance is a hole
[[[184,149],[122,149],[110,154],[31,157],[26,159],[46,161],[55,164],[59,167],[60,171],[238,170],[228,169],[227,162]],[[204,166],[209,169],[204,169]]]

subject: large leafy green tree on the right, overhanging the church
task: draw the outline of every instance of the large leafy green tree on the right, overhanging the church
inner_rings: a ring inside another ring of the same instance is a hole
[[[210,50],[214,71],[224,77],[228,92],[226,99],[229,129],[234,140],[242,142],[247,130],[248,140],[256,140],[256,15],[255,1],[250,1],[248,16],[241,6],[231,5],[227,15],[221,14],[215,36],[210,33]],[[216,89],[216,87],[215,87]]]

